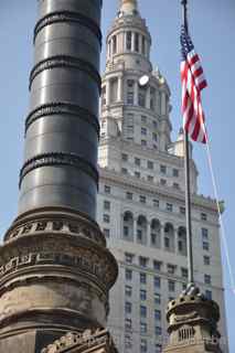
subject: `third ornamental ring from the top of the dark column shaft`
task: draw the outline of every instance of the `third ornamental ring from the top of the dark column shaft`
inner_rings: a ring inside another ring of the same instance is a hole
[[[44,104],[32,110],[26,117],[25,132],[30,125],[35,120],[54,115],[72,115],[76,118],[83,119],[90,124],[95,128],[97,135],[99,135],[99,122],[97,117],[90,114],[87,109],[66,101]]]

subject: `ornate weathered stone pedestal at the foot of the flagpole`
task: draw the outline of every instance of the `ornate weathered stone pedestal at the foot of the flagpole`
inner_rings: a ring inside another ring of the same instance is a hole
[[[220,308],[202,295],[181,296],[168,306],[169,344],[164,353],[222,353]]]

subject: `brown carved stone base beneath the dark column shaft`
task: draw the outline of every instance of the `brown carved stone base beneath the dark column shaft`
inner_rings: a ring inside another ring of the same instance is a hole
[[[20,338],[22,353],[31,353],[23,344],[32,346],[33,336],[105,327],[116,277],[94,221],[62,208],[22,215],[0,248],[0,344]]]

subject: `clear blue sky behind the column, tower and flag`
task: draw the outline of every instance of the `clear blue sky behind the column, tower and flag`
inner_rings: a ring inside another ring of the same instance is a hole
[[[212,142],[213,164],[220,197],[225,200],[225,228],[235,269],[235,1],[191,0],[190,26],[194,44],[203,61],[210,87],[203,92],[204,110]],[[118,0],[104,0],[103,31],[107,32],[116,14]],[[142,15],[152,34],[152,63],[167,77],[172,97],[175,137],[181,125],[179,31],[180,0],[139,0]],[[3,235],[17,214],[18,175],[23,154],[24,118],[28,114],[28,77],[33,61],[32,32],[36,0],[0,0],[0,233]],[[104,42],[105,44],[105,42]],[[105,46],[104,46],[105,49]],[[103,68],[104,68],[103,53]],[[194,157],[200,171],[200,193],[212,195],[205,148],[195,146]],[[224,265],[227,322],[231,352],[235,352],[235,295]]]

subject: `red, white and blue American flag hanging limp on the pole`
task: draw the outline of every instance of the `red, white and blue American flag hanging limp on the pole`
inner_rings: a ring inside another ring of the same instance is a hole
[[[207,86],[199,55],[185,26],[181,30],[182,62],[182,113],[183,127],[192,140],[206,143],[201,90]]]

